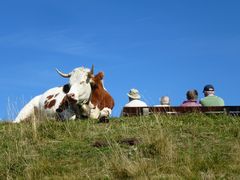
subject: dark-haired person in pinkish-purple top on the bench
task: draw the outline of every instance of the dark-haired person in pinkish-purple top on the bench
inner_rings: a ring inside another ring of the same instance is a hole
[[[198,92],[196,89],[192,89],[187,91],[186,93],[187,100],[183,101],[183,103],[180,105],[181,107],[187,107],[187,106],[202,106],[197,102],[198,99]]]

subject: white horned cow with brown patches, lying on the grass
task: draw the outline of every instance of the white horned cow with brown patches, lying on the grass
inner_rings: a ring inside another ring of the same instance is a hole
[[[34,97],[28,102],[17,115],[14,123],[21,122],[34,115],[35,110],[44,115],[55,118],[56,115],[61,119],[74,119],[79,114],[79,108],[88,103],[91,96],[90,78],[93,72],[88,68],[75,68],[72,72],[64,74],[57,72],[65,78],[69,78],[69,84],[62,87],[54,87],[41,95]],[[71,101],[68,103],[68,101]],[[62,108],[62,104],[68,103],[68,106]],[[59,108],[61,106],[61,108]]]

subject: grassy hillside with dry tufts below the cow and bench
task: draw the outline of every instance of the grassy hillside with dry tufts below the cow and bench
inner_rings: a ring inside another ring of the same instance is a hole
[[[0,179],[240,179],[240,117],[0,124]]]

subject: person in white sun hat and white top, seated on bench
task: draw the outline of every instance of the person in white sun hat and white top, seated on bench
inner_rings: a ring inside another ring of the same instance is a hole
[[[146,107],[147,104],[141,101],[140,93],[137,89],[131,89],[129,93],[127,93],[129,102],[124,107]]]

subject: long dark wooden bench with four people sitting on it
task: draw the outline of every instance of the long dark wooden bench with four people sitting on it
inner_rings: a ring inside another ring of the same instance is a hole
[[[122,116],[144,116],[150,114],[184,114],[184,113],[204,113],[204,114],[229,114],[240,115],[240,106],[212,106],[212,107],[124,107]]]

